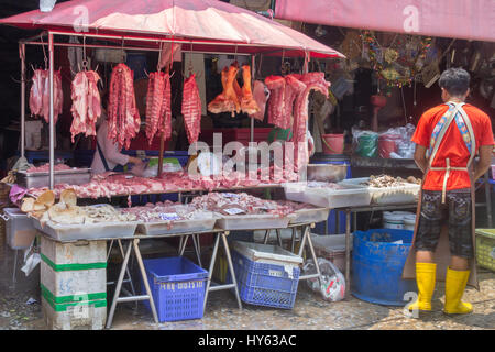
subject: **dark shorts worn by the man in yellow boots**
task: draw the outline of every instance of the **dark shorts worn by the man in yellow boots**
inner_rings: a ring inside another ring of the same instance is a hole
[[[447,191],[443,205],[441,191],[422,191],[421,215],[415,242],[416,250],[435,252],[446,221],[449,227],[450,253],[465,258],[473,257],[470,189]]]

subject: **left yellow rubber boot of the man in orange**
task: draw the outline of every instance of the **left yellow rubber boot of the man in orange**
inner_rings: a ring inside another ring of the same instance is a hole
[[[408,309],[431,311],[431,297],[433,297],[437,264],[416,263],[416,283],[418,285],[418,299]]]

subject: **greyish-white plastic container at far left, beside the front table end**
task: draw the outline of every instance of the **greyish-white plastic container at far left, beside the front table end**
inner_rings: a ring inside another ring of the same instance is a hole
[[[28,215],[19,208],[4,208],[7,243],[12,250],[29,249],[37,230]]]

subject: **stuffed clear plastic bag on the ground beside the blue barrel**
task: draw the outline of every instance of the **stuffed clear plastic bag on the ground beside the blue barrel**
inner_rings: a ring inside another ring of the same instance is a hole
[[[309,288],[316,293],[320,293],[324,300],[339,301],[345,297],[345,278],[339,268],[330,261],[319,257],[318,265],[320,267],[321,279],[307,279]],[[305,275],[316,274],[316,267],[312,260],[308,260],[302,267]]]

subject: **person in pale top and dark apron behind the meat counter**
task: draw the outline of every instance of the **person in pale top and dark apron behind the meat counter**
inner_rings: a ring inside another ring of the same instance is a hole
[[[102,97],[101,101],[101,117],[97,122],[99,124],[97,147],[91,163],[91,173],[95,175],[111,172],[118,165],[124,166],[129,163],[141,166],[143,162],[139,157],[122,154],[119,143],[114,143],[108,138],[107,97]]]

